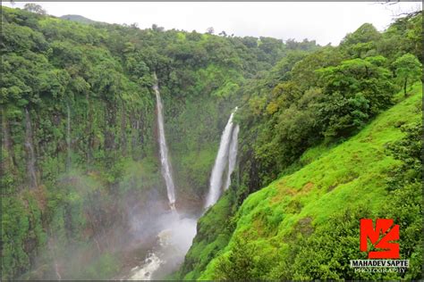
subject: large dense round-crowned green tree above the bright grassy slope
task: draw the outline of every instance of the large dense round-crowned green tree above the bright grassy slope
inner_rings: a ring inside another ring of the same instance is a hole
[[[317,71],[323,88],[318,120],[326,137],[348,137],[392,105],[395,87],[383,56],[353,59]]]

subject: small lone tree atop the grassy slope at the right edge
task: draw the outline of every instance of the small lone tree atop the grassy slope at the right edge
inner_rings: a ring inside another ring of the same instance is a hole
[[[406,88],[420,79],[421,63],[413,54],[404,54],[393,63],[396,79],[403,87],[403,94],[406,96]]]

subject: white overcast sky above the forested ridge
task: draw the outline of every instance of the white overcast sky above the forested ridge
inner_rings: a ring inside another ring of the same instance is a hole
[[[9,2],[3,3],[11,6]],[[14,7],[22,8],[25,2]],[[318,44],[338,45],[348,32],[364,22],[384,30],[401,12],[422,9],[420,2],[393,5],[370,2],[353,3],[152,3],[152,2],[42,2],[47,13],[62,16],[80,14],[94,21],[109,23],[137,22],[140,29],[153,23],[165,29],[205,32],[213,27],[216,33],[228,35],[276,37],[280,39],[308,38]]]

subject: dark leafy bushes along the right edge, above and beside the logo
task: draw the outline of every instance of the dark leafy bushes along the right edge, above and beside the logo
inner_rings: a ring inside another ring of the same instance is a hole
[[[418,280],[422,277],[422,123],[415,121],[402,126],[402,139],[386,145],[386,152],[400,162],[387,178],[389,199],[381,211],[388,219],[396,219],[400,225],[401,257],[410,257],[411,264],[405,280]],[[417,258],[417,259],[415,259]],[[414,263],[415,262],[415,263]],[[415,265],[415,266],[414,266]]]

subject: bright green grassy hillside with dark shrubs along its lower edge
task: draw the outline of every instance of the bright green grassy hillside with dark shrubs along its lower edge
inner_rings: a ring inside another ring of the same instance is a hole
[[[201,260],[210,260],[216,247],[221,250],[199,279],[376,278],[354,274],[349,260],[366,258],[359,251],[360,218],[378,216],[408,219],[401,228],[402,256],[411,258],[404,278],[420,277],[420,242],[405,238],[420,237],[420,213],[407,214],[414,210],[405,208],[401,214],[398,206],[392,206],[420,204],[420,185],[413,187],[412,195],[396,195],[388,192],[387,184],[401,163],[387,152],[387,145],[405,137],[403,127],[421,126],[422,87],[417,85],[412,93],[342,144],[311,148],[301,156],[301,161],[309,164],[250,195],[232,219],[235,228],[226,235],[231,236],[228,245],[223,239],[225,225],[218,226],[222,229],[216,232],[222,234],[214,242],[205,245],[207,236],[195,242],[186,260],[196,257],[200,262],[185,278],[199,275]],[[232,193],[199,220],[200,236],[208,221],[225,220],[218,211],[225,212]],[[399,278],[394,274],[378,277]]]

